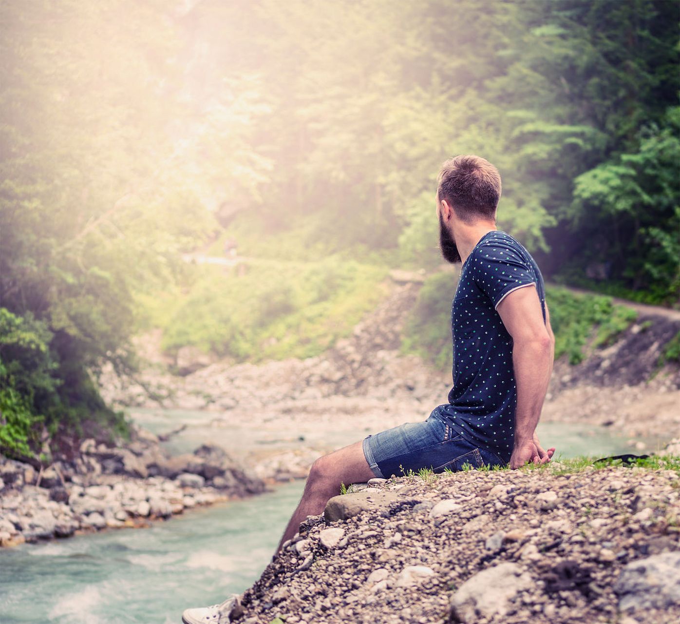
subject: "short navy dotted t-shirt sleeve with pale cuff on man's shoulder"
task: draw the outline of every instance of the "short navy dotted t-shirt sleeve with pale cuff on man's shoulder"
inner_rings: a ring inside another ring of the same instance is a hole
[[[488,295],[494,308],[512,291],[536,284],[529,261],[503,242],[481,246],[473,260],[473,280]]]

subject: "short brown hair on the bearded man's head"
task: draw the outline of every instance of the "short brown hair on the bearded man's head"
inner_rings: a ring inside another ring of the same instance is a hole
[[[437,176],[437,201],[442,199],[466,223],[495,219],[500,199],[498,169],[479,156],[449,158]]]

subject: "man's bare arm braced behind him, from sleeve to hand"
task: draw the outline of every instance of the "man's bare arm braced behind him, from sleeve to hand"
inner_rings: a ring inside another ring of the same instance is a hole
[[[555,348],[547,309],[544,323],[535,286],[524,286],[507,295],[496,310],[513,339],[517,410],[510,467],[520,467],[527,461],[545,463],[555,449],[544,451],[534,435],[552,372]]]

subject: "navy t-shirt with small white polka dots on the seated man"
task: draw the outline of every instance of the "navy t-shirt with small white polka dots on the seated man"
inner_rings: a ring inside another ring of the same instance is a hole
[[[516,289],[535,284],[545,321],[543,276],[513,237],[494,230],[479,240],[460,270],[452,306],[454,387],[437,410],[459,435],[509,461],[517,390],[512,338],[496,312]]]

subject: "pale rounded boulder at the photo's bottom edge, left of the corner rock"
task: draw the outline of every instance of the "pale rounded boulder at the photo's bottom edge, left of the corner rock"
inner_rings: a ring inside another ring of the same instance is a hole
[[[531,576],[522,572],[517,563],[500,563],[477,572],[454,593],[450,621],[457,624],[481,618],[502,621],[511,599],[533,585]]]

